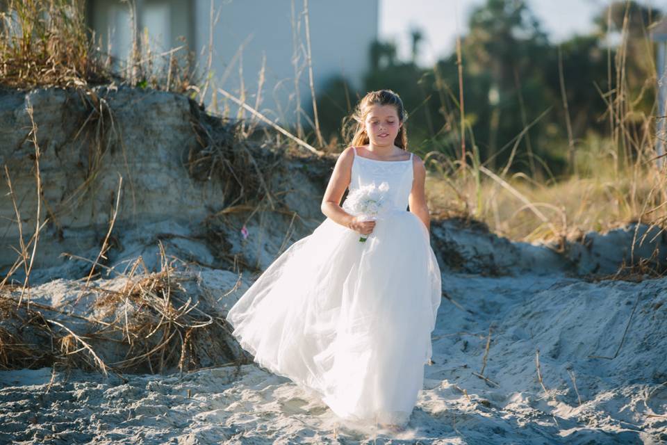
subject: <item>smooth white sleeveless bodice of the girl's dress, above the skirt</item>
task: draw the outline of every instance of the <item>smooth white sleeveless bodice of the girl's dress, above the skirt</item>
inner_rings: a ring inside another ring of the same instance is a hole
[[[413,182],[413,154],[404,161],[378,161],[359,156],[354,150],[354,159],[352,160],[352,177],[349,181],[349,192],[352,193],[356,188],[375,184],[379,186],[386,182],[389,186],[388,209],[406,210],[408,207],[408,197],[412,190]]]

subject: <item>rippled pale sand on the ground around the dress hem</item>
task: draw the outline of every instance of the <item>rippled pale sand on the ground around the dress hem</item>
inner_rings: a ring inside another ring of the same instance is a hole
[[[0,442],[659,444],[667,440],[667,280],[443,273],[434,364],[398,435],[331,411],[256,365],[179,375],[0,373]],[[636,307],[635,307],[636,304]],[[633,311],[634,309],[634,311]],[[632,315],[632,318],[631,318]],[[629,325],[628,325],[629,322]],[[491,343],[481,371],[488,328]],[[613,357],[591,358],[588,355]],[[537,379],[536,350],[543,391]],[[576,378],[579,405],[570,369]],[[190,394],[188,396],[188,391]],[[418,441],[418,442],[415,442]]]

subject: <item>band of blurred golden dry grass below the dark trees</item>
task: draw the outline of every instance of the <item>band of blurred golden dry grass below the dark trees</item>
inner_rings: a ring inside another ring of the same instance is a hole
[[[643,175],[628,172],[616,177],[604,171],[604,161],[600,164],[596,177],[570,177],[551,184],[514,175],[507,179],[513,190],[490,177],[477,186],[471,175],[463,177],[438,165],[428,178],[429,208],[436,218],[477,219],[500,236],[518,241],[577,239],[586,232],[606,232],[635,222],[664,227],[664,172],[647,168]]]

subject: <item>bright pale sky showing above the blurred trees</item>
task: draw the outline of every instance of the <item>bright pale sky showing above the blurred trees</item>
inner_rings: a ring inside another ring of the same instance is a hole
[[[551,42],[566,40],[575,33],[593,29],[593,17],[611,0],[526,0],[542,24]],[[664,0],[641,1],[656,7]],[[417,63],[433,65],[438,58],[451,54],[456,35],[467,32],[472,9],[485,0],[379,0],[379,38],[394,40],[398,57],[409,60],[410,30],[417,26],[425,39]],[[457,29],[459,31],[457,31]]]

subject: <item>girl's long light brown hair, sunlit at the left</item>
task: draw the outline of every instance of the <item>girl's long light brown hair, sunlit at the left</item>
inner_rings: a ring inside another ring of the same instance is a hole
[[[401,128],[398,129],[394,144],[397,147],[406,150],[408,148],[408,135],[405,129],[405,120],[408,118],[408,114],[403,106],[403,101],[399,95],[392,90],[368,92],[363,99],[359,101],[359,104],[356,105],[352,115],[343,120],[343,139],[350,140],[349,136],[354,132],[352,142],[349,144],[352,147],[359,147],[359,145],[365,145],[370,142],[368,133],[366,133],[365,120],[369,108],[372,105],[393,105],[396,107],[398,120],[403,124]]]

